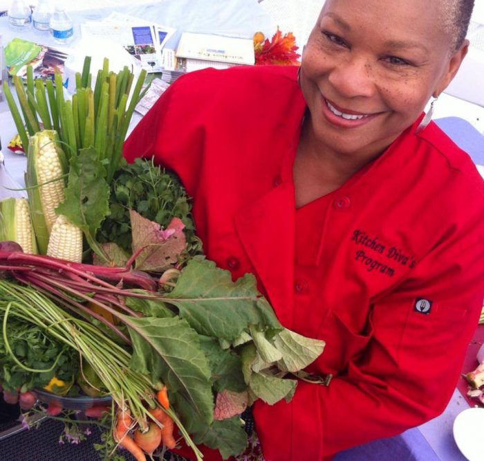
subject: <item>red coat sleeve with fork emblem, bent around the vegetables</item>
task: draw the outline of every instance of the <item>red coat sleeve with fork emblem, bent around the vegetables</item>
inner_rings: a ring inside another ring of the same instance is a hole
[[[427,255],[411,280],[375,301],[366,353],[346,374],[328,387],[299,382],[289,404],[256,403],[266,461],[321,460],[443,412],[483,305],[482,222]],[[422,295],[432,300],[428,315],[414,309]]]

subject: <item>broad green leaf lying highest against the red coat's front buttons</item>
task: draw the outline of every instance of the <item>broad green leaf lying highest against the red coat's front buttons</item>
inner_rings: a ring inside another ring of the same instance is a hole
[[[229,271],[202,258],[188,262],[166,298],[178,307],[181,318],[206,336],[234,341],[249,325],[282,328],[257,291],[253,275],[232,282]]]

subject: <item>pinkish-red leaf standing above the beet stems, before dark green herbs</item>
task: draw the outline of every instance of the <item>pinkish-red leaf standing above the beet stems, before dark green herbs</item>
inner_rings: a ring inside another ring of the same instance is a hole
[[[178,255],[185,250],[187,241],[181,219],[173,218],[166,229],[160,224],[130,210],[133,254],[143,248],[136,257],[136,269],[162,272],[178,262]]]

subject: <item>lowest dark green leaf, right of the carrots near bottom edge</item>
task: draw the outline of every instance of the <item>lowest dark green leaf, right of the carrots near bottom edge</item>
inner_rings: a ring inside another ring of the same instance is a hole
[[[224,460],[239,455],[248,446],[247,434],[238,416],[214,421],[203,437],[194,437],[194,442],[218,449]]]

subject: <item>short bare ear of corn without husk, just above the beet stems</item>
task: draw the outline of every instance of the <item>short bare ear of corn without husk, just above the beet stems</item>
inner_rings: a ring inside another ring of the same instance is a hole
[[[82,230],[64,215],[57,216],[52,226],[47,255],[59,260],[82,261]]]

